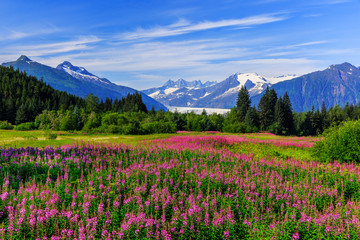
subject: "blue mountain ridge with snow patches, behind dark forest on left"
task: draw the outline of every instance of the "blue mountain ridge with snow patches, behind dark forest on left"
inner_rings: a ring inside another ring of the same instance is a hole
[[[16,61],[3,63],[2,66],[12,66],[14,69],[26,72],[28,75],[43,79],[44,82],[55,89],[66,91],[79,97],[85,97],[87,94],[93,93],[100,99],[121,99],[126,97],[128,93],[133,94],[137,92],[133,88],[120,86],[106,78],[100,78],[89,73],[85,68],[73,66],[67,61],[59,64],[56,68],[52,68],[32,61],[27,56],[22,55]],[[140,91],[138,92],[142,95],[143,102],[148,109],[154,107],[155,110],[167,110],[163,104],[155,99]]]

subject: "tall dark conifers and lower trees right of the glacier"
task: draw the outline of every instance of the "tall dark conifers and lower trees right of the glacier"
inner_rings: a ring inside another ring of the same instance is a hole
[[[337,126],[341,122],[360,119],[360,104],[346,103],[326,108],[325,102],[321,109],[307,112],[294,112],[287,92],[278,97],[274,89],[267,88],[257,106],[251,107],[250,95],[246,87],[238,93],[236,106],[231,109],[239,122],[255,129],[255,131],[269,131],[278,135],[315,136],[326,129]],[[230,114],[231,114],[230,112]]]

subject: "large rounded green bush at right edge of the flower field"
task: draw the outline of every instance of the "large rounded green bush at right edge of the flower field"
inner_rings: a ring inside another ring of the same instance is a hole
[[[314,147],[321,161],[360,162],[360,121],[343,122],[326,130]]]

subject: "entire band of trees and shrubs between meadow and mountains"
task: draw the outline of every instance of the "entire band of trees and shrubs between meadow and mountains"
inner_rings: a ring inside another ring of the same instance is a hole
[[[296,113],[287,93],[278,96],[267,88],[258,106],[251,105],[246,87],[236,105],[225,115],[204,110],[179,113],[148,110],[139,93],[122,99],[84,99],[58,91],[42,79],[12,67],[0,66],[0,129],[51,129],[120,134],[222,131],[232,133],[269,131],[280,135],[318,135],[346,120],[360,117],[360,105],[346,104]]]

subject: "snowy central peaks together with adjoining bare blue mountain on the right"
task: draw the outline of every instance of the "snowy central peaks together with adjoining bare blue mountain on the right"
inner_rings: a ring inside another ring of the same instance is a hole
[[[182,86],[168,84],[172,82],[168,81],[160,88],[143,92],[169,107],[232,108],[241,86],[247,87],[255,106],[269,87],[278,96],[287,92],[296,112],[309,111],[313,106],[319,109],[322,102],[326,107],[344,107],[346,103],[357,104],[360,100],[360,69],[347,62],[302,76],[268,78],[256,73],[236,73],[219,83],[198,84],[198,87],[187,87],[185,80],[179,81]]]

